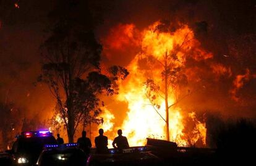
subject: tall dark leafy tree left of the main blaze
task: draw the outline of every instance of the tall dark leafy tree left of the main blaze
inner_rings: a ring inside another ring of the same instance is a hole
[[[55,20],[49,29],[49,38],[41,46],[43,66],[38,81],[49,86],[69,142],[73,142],[80,122],[85,122],[89,116],[89,123],[98,122],[96,117],[101,111],[98,94],[114,94],[113,81],[118,77],[125,78],[128,72],[114,66],[109,70],[112,77],[101,73],[101,44],[93,33],[95,20],[91,11],[85,9],[87,2],[59,3],[59,8],[51,13]],[[80,17],[81,14],[86,18]]]

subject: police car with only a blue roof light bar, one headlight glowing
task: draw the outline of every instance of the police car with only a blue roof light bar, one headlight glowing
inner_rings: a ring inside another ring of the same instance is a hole
[[[36,165],[38,166],[85,166],[87,156],[82,149],[79,149],[79,144],[47,144]]]

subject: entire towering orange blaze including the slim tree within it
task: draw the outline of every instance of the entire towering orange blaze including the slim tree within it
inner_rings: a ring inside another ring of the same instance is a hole
[[[127,103],[127,113],[119,127],[111,116],[112,132],[122,128],[133,146],[145,144],[146,138],[167,139],[179,146],[199,142],[198,146],[205,146],[204,120],[197,120],[195,112],[182,111],[178,104],[194,91],[189,89],[186,73],[190,68],[186,67],[186,60],[200,61],[213,55],[200,47],[187,25],[172,29],[167,23],[155,22],[142,31],[131,24],[116,28],[116,33],[106,38],[109,49],[140,47],[140,51],[127,65],[129,76],[120,83],[114,98]],[[110,55],[109,50],[105,51]],[[108,114],[103,114],[103,119],[109,123]],[[190,131],[184,130],[187,125],[193,126]]]

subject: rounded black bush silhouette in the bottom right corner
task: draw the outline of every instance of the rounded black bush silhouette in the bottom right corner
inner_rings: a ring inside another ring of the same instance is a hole
[[[221,163],[252,161],[256,148],[255,124],[245,119],[228,123],[216,135],[216,146]]]

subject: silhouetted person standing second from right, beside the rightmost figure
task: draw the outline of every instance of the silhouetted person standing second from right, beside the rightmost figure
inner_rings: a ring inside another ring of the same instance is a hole
[[[108,137],[103,135],[104,131],[101,128],[99,130],[99,136],[95,138],[96,152],[106,153],[108,152]]]

